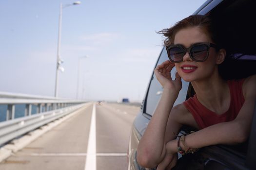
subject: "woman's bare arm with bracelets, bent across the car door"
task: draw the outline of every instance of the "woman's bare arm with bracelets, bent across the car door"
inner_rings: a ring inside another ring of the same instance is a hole
[[[245,102],[236,119],[201,129],[185,137],[191,148],[202,148],[216,144],[238,144],[245,142],[250,134],[251,121],[256,102],[256,75],[248,77],[243,85]],[[184,149],[182,143],[181,148]],[[177,152],[177,140],[166,145],[168,153]]]

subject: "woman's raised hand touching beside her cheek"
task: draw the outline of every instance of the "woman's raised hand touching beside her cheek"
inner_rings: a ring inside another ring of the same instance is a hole
[[[163,88],[168,88],[179,92],[182,85],[180,76],[178,75],[178,73],[176,73],[175,80],[172,80],[171,77],[171,70],[174,68],[174,66],[174,63],[172,63],[170,60],[167,60],[162,64],[158,65],[154,72]]]

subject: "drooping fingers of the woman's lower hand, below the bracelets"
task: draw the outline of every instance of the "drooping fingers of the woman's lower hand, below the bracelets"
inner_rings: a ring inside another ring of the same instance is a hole
[[[177,153],[166,153],[162,162],[159,163],[157,170],[172,170],[177,164]]]

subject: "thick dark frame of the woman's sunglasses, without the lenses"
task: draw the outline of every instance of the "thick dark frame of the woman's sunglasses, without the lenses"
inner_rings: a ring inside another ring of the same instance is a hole
[[[205,57],[203,60],[197,60],[197,59],[195,59],[195,58],[191,55],[191,49],[192,49],[193,47],[198,46],[198,45],[203,45],[203,46],[206,46],[206,48],[207,48],[207,55],[206,55],[206,57]],[[170,49],[171,49],[171,48],[174,48],[174,47],[179,47],[179,48],[181,48],[181,49],[183,50],[183,56],[182,56],[182,58],[181,58],[180,60],[178,60],[178,61],[172,60],[172,59],[171,59],[171,56],[170,56]],[[183,61],[183,57],[184,57],[184,55],[185,55],[187,52],[189,53],[189,56],[190,56],[190,58],[191,58],[192,60],[194,60],[194,61],[196,61],[196,62],[203,62],[203,61],[205,61],[205,60],[208,58],[208,56],[209,56],[209,49],[210,49],[210,47],[216,48],[217,46],[216,46],[216,44],[213,44],[213,43],[195,43],[195,44],[192,44],[189,48],[185,48],[185,47],[182,46],[181,44],[177,44],[177,45],[166,46],[165,49],[166,49],[166,51],[167,51],[167,55],[168,55],[169,60],[171,60],[171,62],[173,62],[173,63],[180,63],[180,62],[182,62],[182,61]]]

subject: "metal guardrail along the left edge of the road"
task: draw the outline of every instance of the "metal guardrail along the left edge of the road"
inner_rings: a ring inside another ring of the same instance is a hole
[[[0,92],[0,106],[6,108],[6,121],[0,122],[0,145],[72,113],[84,103],[85,101]],[[24,105],[24,110],[21,110],[24,115],[21,118],[15,118],[17,104]],[[4,113],[0,112],[0,116],[2,114]]]

